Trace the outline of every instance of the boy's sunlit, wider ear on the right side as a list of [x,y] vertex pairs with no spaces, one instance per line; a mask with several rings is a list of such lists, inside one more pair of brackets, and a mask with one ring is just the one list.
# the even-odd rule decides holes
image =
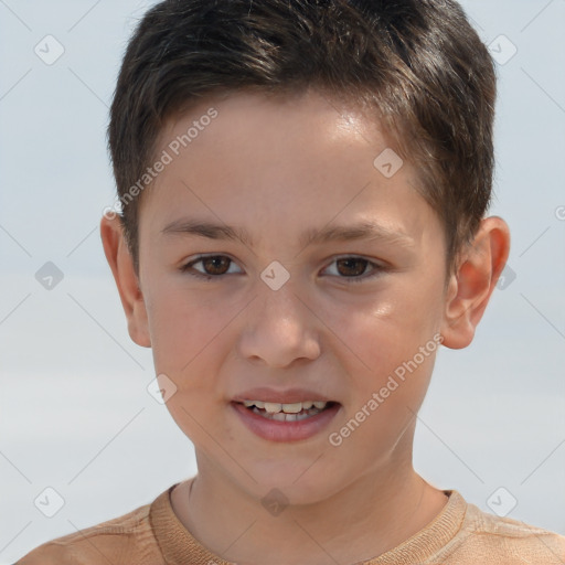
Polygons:
[[510,253],[510,230],[498,216],[481,221],[473,241],[459,258],[446,292],[443,345],[469,345]]

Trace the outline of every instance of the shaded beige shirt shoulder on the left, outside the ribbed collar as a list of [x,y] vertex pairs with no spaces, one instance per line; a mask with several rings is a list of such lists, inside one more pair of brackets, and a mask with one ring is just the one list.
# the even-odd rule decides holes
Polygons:
[[85,530],[46,542],[15,565],[94,565],[160,563],[149,520],[151,504]]

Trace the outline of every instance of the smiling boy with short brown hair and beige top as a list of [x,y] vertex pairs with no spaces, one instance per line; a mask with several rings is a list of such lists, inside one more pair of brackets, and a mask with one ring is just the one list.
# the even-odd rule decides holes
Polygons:
[[509,254],[494,97],[454,1],[152,8],[100,234],[199,472],[19,563],[564,563],[412,466],[437,349],[469,345]]

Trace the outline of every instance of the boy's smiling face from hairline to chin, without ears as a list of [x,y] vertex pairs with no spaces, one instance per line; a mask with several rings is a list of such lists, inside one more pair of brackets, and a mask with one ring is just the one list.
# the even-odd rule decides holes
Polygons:
[[[212,106],[217,116],[201,119]],[[190,143],[171,146],[190,127]],[[157,157],[172,162],[140,209],[136,335],[177,386],[167,405],[200,471],[313,502],[408,469],[446,305],[444,233],[414,170],[386,178],[398,163],[373,164],[387,148],[375,125],[315,94],[206,100],[160,143]],[[189,220],[217,225],[215,238],[163,232]],[[360,223],[398,237],[306,243],[307,232]],[[250,241],[223,237],[226,226]],[[181,270],[201,254],[222,257]],[[277,393],[339,405],[285,423],[234,402]]]

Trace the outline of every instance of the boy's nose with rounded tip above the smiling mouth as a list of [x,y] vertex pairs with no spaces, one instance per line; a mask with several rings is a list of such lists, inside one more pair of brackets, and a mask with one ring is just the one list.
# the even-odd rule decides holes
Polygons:
[[278,290],[267,285],[249,305],[239,337],[239,353],[270,367],[289,367],[320,355],[319,319],[287,282]]

